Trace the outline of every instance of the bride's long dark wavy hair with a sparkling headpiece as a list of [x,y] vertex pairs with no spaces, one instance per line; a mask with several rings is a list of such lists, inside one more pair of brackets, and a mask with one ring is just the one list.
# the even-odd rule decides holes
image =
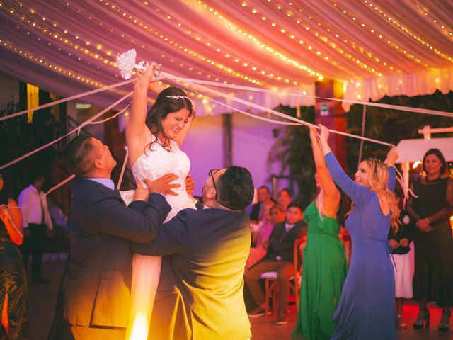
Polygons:
[[[168,113],[180,111],[182,108],[188,109],[189,117],[195,115],[192,102],[183,90],[178,87],[171,86],[161,91],[159,96],[156,98],[156,102],[149,109],[147,119],[145,120],[147,127],[154,137],[156,137],[156,140],[149,143],[149,145],[145,147],[145,152],[147,149],[151,150],[151,146],[154,143],[161,143],[162,146],[168,150],[167,146],[168,142],[170,142],[170,138],[166,135],[164,128],[162,128],[162,120],[166,118]],[[164,142],[159,141],[159,132],[164,137]]]

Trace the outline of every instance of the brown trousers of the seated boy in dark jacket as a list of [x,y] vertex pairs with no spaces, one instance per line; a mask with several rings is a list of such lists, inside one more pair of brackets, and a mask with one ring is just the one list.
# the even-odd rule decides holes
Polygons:
[[277,281],[280,289],[278,293],[278,313],[286,313],[289,299],[289,278],[294,275],[294,264],[289,261],[261,261],[248,270],[244,280],[258,306],[265,302],[265,294],[260,285],[260,276],[268,271],[277,271],[278,273]]

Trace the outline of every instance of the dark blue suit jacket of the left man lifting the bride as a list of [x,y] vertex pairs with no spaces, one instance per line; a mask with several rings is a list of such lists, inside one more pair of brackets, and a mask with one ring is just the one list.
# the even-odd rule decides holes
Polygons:
[[148,203],[127,208],[120,193],[88,179],[76,181],[71,191],[64,317],[79,326],[126,327],[131,244],[154,239],[171,207],[164,196],[151,193]]

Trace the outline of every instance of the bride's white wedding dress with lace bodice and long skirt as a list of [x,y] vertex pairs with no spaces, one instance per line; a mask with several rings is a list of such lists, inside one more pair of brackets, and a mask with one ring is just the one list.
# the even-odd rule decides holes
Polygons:
[[[160,144],[154,143],[151,150],[142,154],[132,166],[132,174],[137,181],[142,179],[155,180],[161,176],[172,173],[178,176],[173,183],[179,183],[179,188],[173,189],[178,196],[167,195],[166,200],[171,205],[171,211],[165,220],[171,220],[180,210],[194,208],[195,204],[185,191],[185,177],[190,170],[190,160],[178,147],[178,144],[170,140],[171,151],[164,149]],[[170,148],[168,148],[170,149]],[[143,184],[144,185],[144,184]],[[132,200],[131,193],[122,195],[126,204]],[[147,340],[149,322],[156,296],[159,275],[161,272],[161,256],[143,256],[134,254],[132,261],[132,290],[131,310],[125,339]]]

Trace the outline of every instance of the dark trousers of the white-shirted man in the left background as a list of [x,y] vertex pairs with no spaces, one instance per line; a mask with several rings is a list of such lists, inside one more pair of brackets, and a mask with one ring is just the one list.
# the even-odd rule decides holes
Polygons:
[[35,225],[34,223],[28,224],[30,235],[25,235],[23,244],[21,245],[21,253],[23,258],[23,266],[25,271],[28,266],[28,258],[32,255],[31,268],[33,280],[41,278],[41,263],[42,253],[45,249],[47,242],[47,225]]

